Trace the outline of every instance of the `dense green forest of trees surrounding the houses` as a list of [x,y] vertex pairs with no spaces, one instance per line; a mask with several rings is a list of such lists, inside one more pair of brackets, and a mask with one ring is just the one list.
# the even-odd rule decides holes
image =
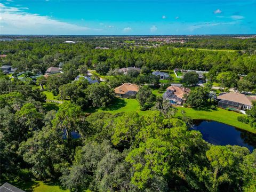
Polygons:
[[[70,191],[255,191],[255,149],[211,145],[190,129],[184,111],[177,118],[177,109],[155,97],[148,86],[137,94],[141,107],[150,109],[145,115],[90,111],[113,102],[113,88],[124,82],[159,86],[151,70],[206,70],[207,78],[223,87],[250,85],[246,91],[254,91],[255,38],[186,37],[185,44],[158,47],[148,47],[152,42],[125,44],[132,37],[26,38],[0,44],[1,54],[6,54],[0,65],[17,68],[13,77],[26,72],[22,81],[0,74],[1,183],[57,180]],[[63,43],[68,40],[77,43]],[[32,76],[51,66],[63,73],[33,81]],[[142,69],[140,75],[118,74],[100,84],[73,82],[89,69],[113,76],[115,69],[133,66]],[[46,103],[38,83],[65,101]],[[206,89],[197,87],[193,94]],[[81,137],[75,138],[74,132]]]

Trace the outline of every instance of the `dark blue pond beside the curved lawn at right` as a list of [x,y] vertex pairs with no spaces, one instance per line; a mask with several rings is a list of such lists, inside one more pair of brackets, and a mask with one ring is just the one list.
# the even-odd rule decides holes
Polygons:
[[213,145],[237,145],[250,151],[256,148],[256,134],[215,121],[195,119],[193,123],[191,129],[200,131],[203,139]]

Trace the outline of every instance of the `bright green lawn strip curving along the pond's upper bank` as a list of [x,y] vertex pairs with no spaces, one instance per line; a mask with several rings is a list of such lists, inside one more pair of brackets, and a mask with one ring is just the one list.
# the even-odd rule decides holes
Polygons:
[[242,114],[236,113],[234,111],[228,111],[225,109],[217,108],[216,110],[212,109],[194,109],[194,108],[185,108],[185,107],[177,107],[178,114],[177,116],[181,116],[181,110],[185,110],[187,116],[192,119],[205,119],[205,120],[213,120],[220,123],[225,123],[228,125],[235,126],[239,129],[243,129],[252,133],[256,133],[256,129],[253,129],[249,124],[245,124],[237,121],[238,116],[243,116]]

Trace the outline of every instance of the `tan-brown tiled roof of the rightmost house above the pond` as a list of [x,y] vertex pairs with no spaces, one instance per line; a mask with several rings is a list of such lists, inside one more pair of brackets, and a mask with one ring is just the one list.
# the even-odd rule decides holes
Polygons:
[[256,100],[256,98],[254,97],[250,97],[242,93],[234,93],[234,92],[220,93],[220,95],[217,98],[221,100],[228,100],[228,101],[242,103],[247,106],[252,106],[252,101]]

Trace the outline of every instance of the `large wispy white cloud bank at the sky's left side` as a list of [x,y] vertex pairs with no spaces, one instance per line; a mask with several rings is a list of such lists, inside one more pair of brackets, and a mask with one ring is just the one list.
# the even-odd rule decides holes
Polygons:
[[[58,21],[48,16],[24,12],[26,7],[8,7],[0,3],[1,34],[84,34],[100,31]],[[92,33],[92,32],[91,32]]]

